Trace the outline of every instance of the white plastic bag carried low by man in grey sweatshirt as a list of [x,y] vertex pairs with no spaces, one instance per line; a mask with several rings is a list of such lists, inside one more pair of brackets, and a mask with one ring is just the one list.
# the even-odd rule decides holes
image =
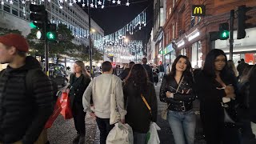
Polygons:
[[126,123],[118,122],[107,135],[106,144],[134,144],[134,134],[132,128]]

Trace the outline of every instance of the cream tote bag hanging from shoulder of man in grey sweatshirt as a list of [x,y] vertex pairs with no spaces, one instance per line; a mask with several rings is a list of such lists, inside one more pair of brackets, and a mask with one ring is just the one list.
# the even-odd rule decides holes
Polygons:
[[110,125],[113,125],[114,123],[120,121],[121,115],[118,112],[117,101],[114,93],[114,75],[111,78],[111,82],[112,90],[110,94]]

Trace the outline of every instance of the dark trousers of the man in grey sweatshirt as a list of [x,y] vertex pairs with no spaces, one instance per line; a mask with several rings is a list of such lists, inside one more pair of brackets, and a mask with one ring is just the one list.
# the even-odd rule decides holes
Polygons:
[[110,125],[110,118],[96,118],[98,129],[100,131],[100,143],[106,144],[106,137],[113,129],[114,125]]

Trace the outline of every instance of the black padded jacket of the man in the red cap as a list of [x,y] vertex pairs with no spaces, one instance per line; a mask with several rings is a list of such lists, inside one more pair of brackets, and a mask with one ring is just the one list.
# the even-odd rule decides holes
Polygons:
[[34,143],[53,110],[53,86],[42,70],[31,77],[33,94],[26,91],[26,73],[41,68],[33,57],[26,65],[14,69],[7,66],[0,78],[0,142],[22,140]]

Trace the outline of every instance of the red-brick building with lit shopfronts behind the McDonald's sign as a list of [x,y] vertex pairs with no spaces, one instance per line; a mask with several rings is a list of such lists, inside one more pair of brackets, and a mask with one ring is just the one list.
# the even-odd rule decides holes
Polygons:
[[[192,5],[206,6],[206,16],[193,17]],[[166,1],[166,24],[164,29],[164,46],[166,55],[172,50],[176,54],[183,54],[190,58],[192,67],[201,67],[206,54],[214,48],[222,49],[229,58],[229,40],[210,40],[211,32],[218,31],[219,24],[229,22],[230,10],[237,10],[238,6],[252,6],[254,9],[246,14],[252,18],[248,22],[252,25],[246,29],[246,38],[237,39],[236,30],[238,20],[235,13],[234,20],[234,62],[245,58],[246,62],[255,63],[256,41],[252,38],[256,35],[256,1],[255,0],[170,0]],[[174,45],[175,44],[175,45]],[[168,50],[169,48],[169,50]],[[175,58],[175,57],[174,57]],[[172,62],[174,58],[167,59]]]

